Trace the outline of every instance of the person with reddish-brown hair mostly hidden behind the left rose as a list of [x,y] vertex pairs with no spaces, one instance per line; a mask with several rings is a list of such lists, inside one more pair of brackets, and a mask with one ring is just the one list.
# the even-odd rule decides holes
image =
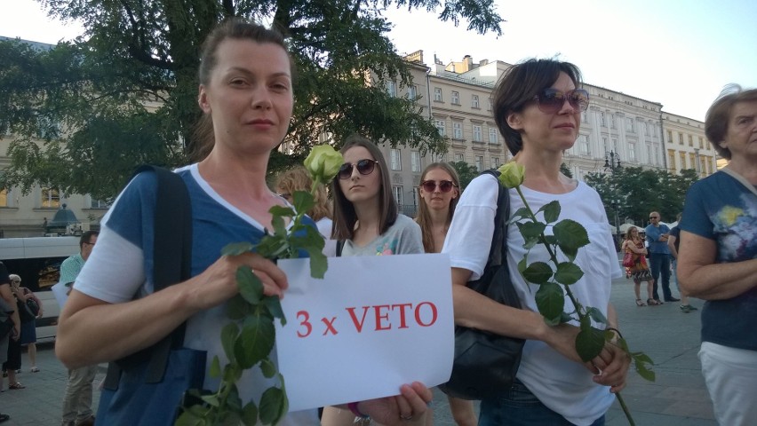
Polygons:
[[[293,193],[297,191],[309,193],[312,186],[313,180],[303,166],[295,166],[290,170],[283,171],[276,177],[274,185],[276,193],[290,204],[294,203],[294,199],[291,198]],[[307,216],[315,221],[318,232],[326,239],[323,255],[327,257],[336,256],[337,241],[331,240],[331,227],[333,226],[331,201],[324,185],[319,185],[315,189],[315,206],[307,212]]]

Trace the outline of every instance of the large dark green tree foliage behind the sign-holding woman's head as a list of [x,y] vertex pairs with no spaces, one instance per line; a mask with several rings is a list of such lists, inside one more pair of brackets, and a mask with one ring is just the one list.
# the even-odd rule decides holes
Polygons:
[[382,12],[438,11],[440,20],[498,35],[502,22],[492,0],[38,1],[52,17],[81,20],[85,34],[52,48],[0,41],[0,134],[17,137],[4,185],[53,185],[102,200],[139,163],[187,162],[198,143],[199,46],[220,20],[267,23],[287,37],[298,77],[285,140],[293,154],[275,156],[273,169],[300,162],[324,132],[443,152],[419,104],[384,89],[411,77]]

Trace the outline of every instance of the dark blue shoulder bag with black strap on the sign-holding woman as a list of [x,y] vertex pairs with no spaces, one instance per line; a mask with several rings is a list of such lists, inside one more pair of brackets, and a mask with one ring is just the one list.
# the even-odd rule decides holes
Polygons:
[[[187,185],[179,175],[154,166],[157,175],[155,204],[155,292],[187,280],[191,274],[192,210]],[[155,345],[108,364],[98,424],[172,425],[185,392],[202,389],[205,351],[182,347],[185,325]]]

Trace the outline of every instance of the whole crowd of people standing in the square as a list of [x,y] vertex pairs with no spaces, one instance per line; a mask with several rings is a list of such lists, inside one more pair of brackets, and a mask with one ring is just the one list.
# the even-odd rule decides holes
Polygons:
[[[310,189],[307,172],[301,168],[279,175],[273,190],[266,180],[270,153],[283,141],[291,120],[293,67],[283,37],[274,30],[231,19],[208,36],[198,97],[207,137],[196,162],[176,170],[191,200],[192,278],[153,291],[156,180],[154,174],[142,173],[103,218],[101,233],[83,236],[81,254],[61,268],[61,280],[65,275],[67,282],[74,283],[60,314],[55,348],[69,368],[72,393],[69,398],[66,392],[64,425],[94,421],[87,406],[92,398],[91,366],[147,348],[182,323],[187,324],[184,344],[207,351],[208,367],[214,356],[223,358],[219,336],[227,301],[238,292],[238,267],[250,268],[267,296],[286,293],[287,277],[271,260],[255,253],[220,256],[220,251],[241,238],[260,241],[272,229],[269,209],[289,206],[292,193]],[[521,189],[530,208],[536,211],[560,201],[560,218],[586,228],[590,243],[574,260],[585,274],[571,286],[573,293],[606,318],[597,327],[619,333],[622,324],[610,303],[610,281],[622,277],[623,271],[602,201],[593,188],[560,171],[563,153],[578,138],[581,114],[588,105],[578,67],[556,59],[529,59],[515,65],[492,94],[498,130],[513,161],[525,167]],[[755,91],[737,91],[719,99],[708,112],[705,127],[719,153],[731,160],[730,171],[715,173],[692,187],[680,225],[673,230],[661,223],[658,212],[651,212],[646,243],[632,227],[620,247],[634,259],[628,273],[636,305],[682,299],[681,311],[691,312],[696,308],[689,304],[689,296],[707,300],[700,358],[718,421],[729,425],[757,418],[757,406],[752,404],[757,395],[757,340],[749,329],[757,319],[755,121]],[[482,275],[487,263],[498,179],[483,174],[463,191],[447,163],[430,164],[418,182],[420,203],[413,220],[399,213],[376,142],[358,135],[341,141],[344,164],[331,182],[332,201],[325,190],[316,193],[315,207],[308,213],[315,221],[312,225],[329,240],[327,256],[446,253],[455,323],[526,340],[511,389],[482,400],[478,414],[470,401],[450,398],[458,425],[602,426],[614,393],[626,387],[630,359],[618,345],[607,342],[595,359],[584,362],[574,343],[576,322],[546,323],[536,304],[538,286],[518,272],[527,248],[516,224],[508,231],[506,261],[522,309],[498,304],[466,286]],[[512,212],[524,206],[514,190],[508,195]],[[549,254],[546,248],[535,247],[528,256],[533,262],[546,260]],[[671,257],[681,299],[670,288]],[[642,281],[647,283],[645,298]],[[0,295],[6,304],[15,305],[14,297],[33,297],[19,284],[20,278],[13,279],[0,264]],[[564,312],[575,310],[570,300],[564,304]],[[16,314],[13,319],[18,320]],[[15,376],[20,344],[29,345],[31,371],[38,371],[32,349],[34,327],[26,338],[24,329],[17,326],[9,339],[0,339],[0,355],[8,354],[4,371],[10,389],[23,388]],[[214,380],[206,375],[205,387],[214,389]],[[245,373],[237,383],[239,396],[258,399],[260,390],[270,384],[265,377]],[[432,424],[431,390],[424,383],[395,384],[394,396],[327,406],[321,413],[315,409],[289,413],[280,424],[347,426],[368,424],[369,419],[371,424]],[[89,400],[82,393],[88,393]],[[0,422],[4,420],[7,416],[0,414]]]

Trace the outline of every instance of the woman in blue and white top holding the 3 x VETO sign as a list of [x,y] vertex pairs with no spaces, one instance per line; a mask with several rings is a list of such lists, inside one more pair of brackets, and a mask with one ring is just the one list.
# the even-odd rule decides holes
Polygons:
[[[55,349],[70,368],[121,359],[185,321],[184,345],[207,351],[210,365],[216,355],[226,358],[221,329],[229,322],[227,301],[239,292],[237,268],[249,267],[268,296],[283,297],[288,288],[281,269],[258,254],[220,256],[230,242],[258,243],[273,230],[270,209],[286,205],[266,183],[270,153],[286,136],[294,100],[283,36],[232,18],[208,36],[199,63],[198,103],[211,124],[210,143],[200,162],[176,170],[192,203],[192,278],[153,291],[157,185],[155,173],[141,173],[103,219],[98,244],[60,314]],[[259,400],[273,383],[257,373],[246,370],[236,383],[244,404]],[[206,374],[203,387],[216,389],[217,382]],[[432,397],[426,386],[412,383],[399,391],[355,409],[389,424],[426,412]],[[284,414],[278,424],[319,422],[314,408]]]

